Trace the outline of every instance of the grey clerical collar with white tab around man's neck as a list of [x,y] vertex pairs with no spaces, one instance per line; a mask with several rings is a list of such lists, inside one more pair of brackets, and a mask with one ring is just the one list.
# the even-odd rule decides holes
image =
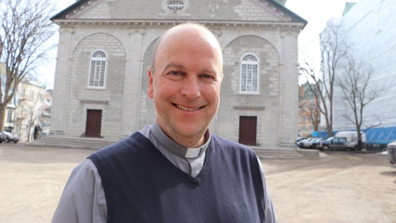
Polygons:
[[200,155],[201,151],[205,151],[209,145],[209,141],[211,138],[210,130],[208,129],[205,132],[204,138],[206,143],[199,148],[188,148],[178,144],[177,142],[170,139],[159,127],[157,121],[154,121],[153,125],[151,125],[151,133],[156,141],[163,147],[175,153],[178,156],[186,157],[186,158],[196,158]]

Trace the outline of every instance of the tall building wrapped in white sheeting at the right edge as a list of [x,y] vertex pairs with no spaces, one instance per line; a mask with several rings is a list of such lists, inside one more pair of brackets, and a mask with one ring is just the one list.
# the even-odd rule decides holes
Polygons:
[[[386,89],[379,97],[364,108],[365,126],[380,123],[381,127],[396,127],[396,2],[393,0],[360,0],[347,4],[344,16],[333,19],[338,23],[349,42],[356,62],[365,62],[372,67],[373,75],[369,89]],[[342,70],[341,66],[337,68]],[[350,108],[343,99],[340,89],[335,89],[333,106],[333,129],[354,129],[355,126],[343,117]],[[394,133],[393,135],[395,135]],[[390,136],[390,135],[389,135]],[[395,135],[396,136],[396,135]]]

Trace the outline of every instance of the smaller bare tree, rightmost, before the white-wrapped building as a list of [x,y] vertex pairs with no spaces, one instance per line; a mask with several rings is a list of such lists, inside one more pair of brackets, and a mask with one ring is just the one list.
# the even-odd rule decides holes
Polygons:
[[[337,77],[337,85],[340,86],[344,94],[344,100],[351,109],[350,113],[343,114],[347,120],[356,126],[358,143],[357,149],[361,150],[361,127],[364,121],[363,111],[367,104],[380,96],[384,89],[379,89],[375,85],[371,85],[373,69],[364,63],[356,63],[353,58],[347,57],[343,66],[344,74]],[[381,121],[379,120],[379,124]],[[379,125],[377,124],[377,125]],[[367,126],[367,129],[377,125]]]

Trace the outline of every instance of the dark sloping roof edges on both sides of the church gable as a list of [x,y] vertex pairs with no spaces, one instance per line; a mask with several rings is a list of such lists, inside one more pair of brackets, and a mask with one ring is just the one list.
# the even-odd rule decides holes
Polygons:
[[[74,10],[79,9],[82,5],[88,3],[90,0],[77,0],[73,5],[69,6],[68,8],[65,8],[61,12],[57,13],[56,15],[51,17],[51,20],[55,19],[65,19],[66,16],[70,13],[73,12]],[[277,10],[285,13],[286,15],[290,16],[294,22],[301,22],[304,23],[305,25],[308,23],[307,20],[303,19],[299,15],[295,14],[294,12],[290,11],[286,7],[282,5],[282,3],[279,3],[277,0],[253,0],[255,2],[267,2],[271,4],[273,7],[275,7]],[[303,27],[303,28],[304,28]]]

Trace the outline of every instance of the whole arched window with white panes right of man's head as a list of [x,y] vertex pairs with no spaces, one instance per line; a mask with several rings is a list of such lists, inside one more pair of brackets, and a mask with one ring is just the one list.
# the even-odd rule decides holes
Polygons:
[[246,54],[241,61],[240,91],[258,93],[258,59],[253,54]]

